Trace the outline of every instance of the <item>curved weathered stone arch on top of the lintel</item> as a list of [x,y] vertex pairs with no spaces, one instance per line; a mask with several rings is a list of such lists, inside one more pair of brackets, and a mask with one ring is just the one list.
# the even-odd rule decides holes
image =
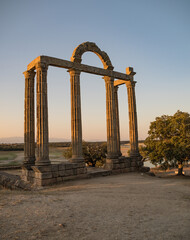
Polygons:
[[84,42],[78,45],[73,51],[71,61],[75,63],[81,63],[82,55],[85,52],[95,53],[103,63],[104,69],[113,70],[113,65],[106,52],[101,51],[101,49],[93,42]]

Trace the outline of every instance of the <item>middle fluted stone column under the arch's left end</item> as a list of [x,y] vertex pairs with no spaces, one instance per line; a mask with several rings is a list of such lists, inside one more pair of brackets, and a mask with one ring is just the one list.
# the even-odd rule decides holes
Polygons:
[[71,69],[71,162],[84,161],[82,154],[82,120],[81,120],[81,98],[80,98],[80,71]]

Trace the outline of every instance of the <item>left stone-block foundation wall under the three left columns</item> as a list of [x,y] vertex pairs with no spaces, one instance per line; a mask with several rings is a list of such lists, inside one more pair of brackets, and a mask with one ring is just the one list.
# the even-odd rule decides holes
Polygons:
[[22,179],[36,186],[47,186],[85,177],[87,168],[85,163],[61,163],[48,166],[32,166],[30,169],[22,167]]

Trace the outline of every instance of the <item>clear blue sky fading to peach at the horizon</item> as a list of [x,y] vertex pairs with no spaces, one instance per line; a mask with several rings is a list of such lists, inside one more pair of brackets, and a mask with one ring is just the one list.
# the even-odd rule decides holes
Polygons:
[[[24,75],[39,55],[70,60],[95,42],[115,71],[134,67],[139,139],[155,117],[190,113],[189,0],[0,0],[0,138],[23,136]],[[102,67],[93,53],[82,62]],[[50,138],[70,139],[70,80],[48,69]],[[106,139],[105,84],[81,74],[83,139]],[[129,139],[126,86],[119,88],[121,139]]]

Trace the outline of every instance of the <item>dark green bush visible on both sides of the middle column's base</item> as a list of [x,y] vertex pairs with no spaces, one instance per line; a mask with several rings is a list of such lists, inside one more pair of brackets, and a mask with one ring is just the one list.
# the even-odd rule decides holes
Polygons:
[[[92,167],[102,167],[105,163],[107,144],[106,143],[82,143],[83,157],[85,162]],[[66,149],[63,152],[63,156],[66,159],[72,157],[72,148]]]

